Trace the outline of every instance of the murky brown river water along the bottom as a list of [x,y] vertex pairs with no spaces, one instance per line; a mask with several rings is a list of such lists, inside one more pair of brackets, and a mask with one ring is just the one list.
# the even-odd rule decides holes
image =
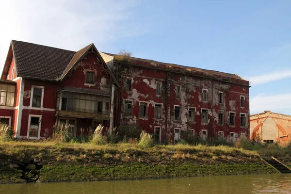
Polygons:
[[0,194],[291,194],[291,175],[2,184]]

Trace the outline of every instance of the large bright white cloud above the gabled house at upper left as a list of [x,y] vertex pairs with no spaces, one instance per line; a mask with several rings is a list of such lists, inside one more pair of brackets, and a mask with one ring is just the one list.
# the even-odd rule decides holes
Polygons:
[[10,41],[21,40],[62,49],[97,49],[116,39],[146,33],[134,18],[139,0],[1,0],[0,72]]

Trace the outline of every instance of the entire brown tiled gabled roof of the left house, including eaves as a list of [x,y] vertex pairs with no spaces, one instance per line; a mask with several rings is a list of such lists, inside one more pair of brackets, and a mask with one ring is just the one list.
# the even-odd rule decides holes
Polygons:
[[[81,50],[71,51],[58,49],[28,42],[12,40],[2,71],[1,79],[6,79],[12,57],[15,59],[16,74],[19,77],[58,81],[64,79],[70,69],[79,63],[89,49],[96,49],[90,44]],[[110,74],[117,87],[119,87],[113,73],[104,62],[99,52],[95,52],[101,64]]]

